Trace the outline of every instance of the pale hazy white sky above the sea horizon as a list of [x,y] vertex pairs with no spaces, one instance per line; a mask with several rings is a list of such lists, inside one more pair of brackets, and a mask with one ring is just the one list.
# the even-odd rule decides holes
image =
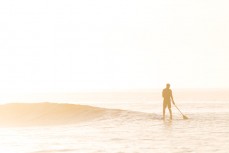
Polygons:
[[0,1],[0,91],[229,87],[228,0]]

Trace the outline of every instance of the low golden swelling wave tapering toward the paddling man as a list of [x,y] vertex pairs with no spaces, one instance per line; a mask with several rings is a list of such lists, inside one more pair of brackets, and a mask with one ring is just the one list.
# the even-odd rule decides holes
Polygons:
[[0,105],[0,126],[40,126],[76,124],[91,120],[159,119],[158,115],[78,104],[11,103]]

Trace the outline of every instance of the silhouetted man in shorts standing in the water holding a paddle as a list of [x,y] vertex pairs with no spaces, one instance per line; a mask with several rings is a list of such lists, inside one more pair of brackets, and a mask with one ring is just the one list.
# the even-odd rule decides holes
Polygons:
[[165,119],[165,109],[168,107],[170,119],[172,120],[173,116],[172,116],[172,109],[171,109],[171,100],[174,105],[175,105],[175,102],[173,100],[173,93],[172,93],[172,90],[170,89],[169,83],[167,83],[166,88],[163,89],[162,97],[164,98],[163,100],[163,119]]

